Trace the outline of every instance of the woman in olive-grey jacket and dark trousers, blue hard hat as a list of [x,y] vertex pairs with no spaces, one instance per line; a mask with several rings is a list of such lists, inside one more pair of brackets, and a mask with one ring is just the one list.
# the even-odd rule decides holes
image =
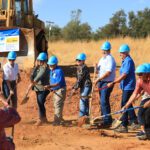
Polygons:
[[47,123],[45,102],[46,97],[49,94],[49,90],[45,90],[44,86],[49,84],[49,68],[47,66],[47,54],[42,52],[37,57],[38,65],[33,69],[31,73],[31,85],[36,92],[37,104],[39,109],[39,119],[37,120],[37,126]]

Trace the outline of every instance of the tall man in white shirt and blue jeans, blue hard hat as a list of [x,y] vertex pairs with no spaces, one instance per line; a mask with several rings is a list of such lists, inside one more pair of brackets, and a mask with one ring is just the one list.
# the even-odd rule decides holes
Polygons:
[[[111,44],[106,41],[103,43],[102,47],[103,57],[99,60],[97,65],[98,78],[95,84],[98,88],[107,87],[107,84],[113,82],[116,75],[116,62],[114,57],[111,55]],[[111,113],[110,108],[110,95],[113,90],[113,86],[110,88],[104,88],[99,90],[100,104],[101,104],[101,115],[106,115]],[[103,127],[109,127],[112,123],[112,117],[106,116],[103,118]]]

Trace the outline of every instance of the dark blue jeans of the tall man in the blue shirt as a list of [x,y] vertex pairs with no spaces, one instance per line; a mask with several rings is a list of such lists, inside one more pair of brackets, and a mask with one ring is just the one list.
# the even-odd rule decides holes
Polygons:
[[[133,93],[133,90],[124,90],[122,92],[123,93],[122,93],[121,108],[128,102],[128,100],[130,99],[130,96]],[[133,108],[132,104],[129,106],[129,108]],[[122,121],[123,126],[126,127],[128,125],[128,119],[130,119],[131,122],[137,121],[137,117],[136,117],[134,109],[123,113],[123,115],[120,119]]]

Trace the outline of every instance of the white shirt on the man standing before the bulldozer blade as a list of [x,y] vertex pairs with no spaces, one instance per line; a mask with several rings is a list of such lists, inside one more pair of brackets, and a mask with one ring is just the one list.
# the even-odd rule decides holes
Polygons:
[[3,72],[4,72],[4,80],[14,81],[17,79],[17,75],[19,73],[18,64],[14,64],[14,67],[10,65],[9,62],[7,62],[3,66]]

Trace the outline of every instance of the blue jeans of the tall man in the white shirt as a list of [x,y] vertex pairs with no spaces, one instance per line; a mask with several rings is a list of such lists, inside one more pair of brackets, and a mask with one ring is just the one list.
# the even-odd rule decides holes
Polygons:
[[[102,88],[102,87],[107,86],[107,83],[109,83],[109,82],[100,81],[98,83],[98,88]],[[111,113],[109,98],[110,98],[110,94],[111,94],[112,90],[113,90],[113,87],[99,90],[100,104],[101,104],[101,115],[106,115],[106,114]],[[106,116],[103,119],[104,119],[105,125],[112,123],[112,117],[111,116]]]

